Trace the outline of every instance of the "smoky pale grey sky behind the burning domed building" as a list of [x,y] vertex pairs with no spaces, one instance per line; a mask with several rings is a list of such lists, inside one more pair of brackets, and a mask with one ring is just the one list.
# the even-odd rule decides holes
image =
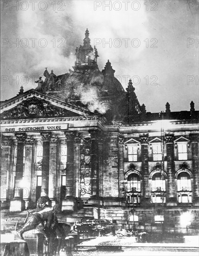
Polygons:
[[[115,76],[124,88],[127,87],[129,77],[135,76],[134,83],[138,83],[136,77],[139,77],[140,82],[134,85],[135,92],[140,104],[146,105],[147,111],[165,110],[167,101],[171,111],[189,110],[191,101],[198,109],[198,0],[192,1],[190,8],[187,8],[186,0],[160,0],[157,6],[156,1],[130,1],[127,7],[124,1],[112,1],[111,10],[109,7],[103,10],[105,1],[65,0],[58,5],[59,1],[46,0],[43,1],[46,3],[46,10],[43,11],[40,8],[44,9],[45,6],[40,0],[35,3],[34,10],[30,1],[24,2],[28,5],[24,3],[19,6],[19,10],[16,7],[10,10],[9,4],[4,7],[6,1],[1,1],[1,42],[2,39],[4,42],[8,39],[7,44],[1,44],[1,100],[9,99],[19,92],[20,78],[24,84],[27,83],[24,85],[25,91],[36,88],[37,84],[33,84],[30,76],[34,75],[33,80],[36,80],[43,75],[45,67],[49,71],[53,69],[56,75],[72,69],[75,61],[73,53],[76,46],[83,43],[88,28],[92,46],[96,39],[99,42],[96,45],[99,69],[103,69],[109,59],[116,71]],[[96,10],[94,2],[101,5]],[[134,9],[139,8],[137,11],[132,8],[133,2],[136,2]],[[149,10],[146,10],[147,7]],[[35,38],[34,47],[31,38]],[[42,38],[47,41],[46,47],[39,46],[38,42]],[[62,40],[59,39],[62,38],[65,43],[60,48],[58,45]],[[134,46],[140,42],[139,47],[132,46],[131,42],[135,38],[138,40],[133,41]],[[189,47],[187,38],[193,42]],[[19,42],[26,39],[21,44],[25,46],[28,42],[29,46],[21,47],[19,43],[19,47],[10,47],[11,39]],[[105,44],[109,40],[111,44]],[[157,47],[152,48],[155,42],[154,46]],[[11,81],[10,76],[13,79],[19,76],[19,84]],[[27,76],[28,81],[23,76]],[[192,76],[190,79],[193,81],[189,84],[187,76]]]

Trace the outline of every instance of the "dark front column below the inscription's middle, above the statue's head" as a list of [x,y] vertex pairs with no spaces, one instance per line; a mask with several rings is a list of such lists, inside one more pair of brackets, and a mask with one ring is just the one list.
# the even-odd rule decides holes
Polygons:
[[51,133],[47,133],[47,132],[41,133],[41,137],[43,141],[41,196],[48,196],[51,135],[52,135]]

